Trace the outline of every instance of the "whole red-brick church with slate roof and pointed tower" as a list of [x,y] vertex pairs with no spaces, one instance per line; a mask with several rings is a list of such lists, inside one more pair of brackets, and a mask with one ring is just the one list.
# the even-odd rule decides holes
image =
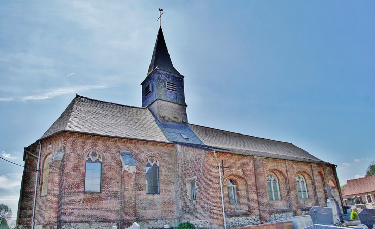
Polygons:
[[343,205],[336,165],[189,123],[161,27],[141,85],[142,107],[76,95],[24,148],[17,228],[235,228],[326,206],[327,184]]

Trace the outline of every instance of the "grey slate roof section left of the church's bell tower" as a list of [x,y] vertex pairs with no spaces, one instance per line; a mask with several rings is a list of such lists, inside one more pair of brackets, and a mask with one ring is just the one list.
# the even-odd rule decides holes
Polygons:
[[147,108],[76,96],[41,139],[61,131],[168,142]]

